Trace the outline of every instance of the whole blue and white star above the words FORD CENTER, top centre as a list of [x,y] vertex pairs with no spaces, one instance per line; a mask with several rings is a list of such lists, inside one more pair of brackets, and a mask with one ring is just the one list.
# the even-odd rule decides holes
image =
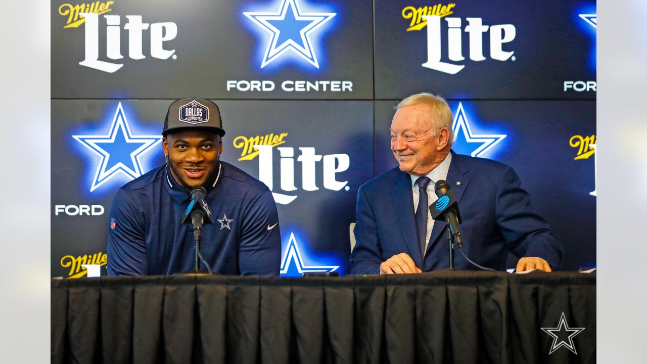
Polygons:
[[243,12],[256,25],[269,32],[270,39],[261,68],[292,51],[319,68],[310,39],[314,30],[336,16],[331,12],[303,12],[298,0],[281,0],[276,12]]

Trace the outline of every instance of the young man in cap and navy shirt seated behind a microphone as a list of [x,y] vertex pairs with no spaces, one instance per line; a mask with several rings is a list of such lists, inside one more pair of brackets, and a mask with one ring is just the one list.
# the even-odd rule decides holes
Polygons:
[[213,222],[203,226],[200,247],[210,269],[223,275],[278,275],[281,235],[272,192],[220,161],[223,135],[214,102],[193,97],[171,103],[162,131],[166,165],[126,183],[113,199],[109,275],[169,275],[195,268],[193,229],[182,220],[196,187],[206,189]]

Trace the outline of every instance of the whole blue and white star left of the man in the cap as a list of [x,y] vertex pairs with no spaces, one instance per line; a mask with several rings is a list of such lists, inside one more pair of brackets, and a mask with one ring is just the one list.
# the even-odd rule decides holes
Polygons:
[[107,135],[72,137],[100,157],[90,192],[118,174],[130,180],[144,174],[140,157],[162,141],[160,135],[133,135],[121,102]]

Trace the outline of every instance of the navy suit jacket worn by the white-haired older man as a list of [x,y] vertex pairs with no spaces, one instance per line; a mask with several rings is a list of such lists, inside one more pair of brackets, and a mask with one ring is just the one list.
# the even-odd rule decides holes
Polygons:
[[[552,269],[562,266],[558,236],[532,208],[530,196],[512,167],[452,152],[446,181],[459,202],[465,255],[481,266],[505,270],[510,251],[538,256]],[[460,184],[457,184],[460,182]],[[436,220],[422,255],[413,212],[411,177],[399,167],[377,176],[357,192],[355,249],[351,274],[378,274],[380,263],[406,253],[422,271],[449,267],[447,223]],[[454,267],[475,269],[460,251]]]

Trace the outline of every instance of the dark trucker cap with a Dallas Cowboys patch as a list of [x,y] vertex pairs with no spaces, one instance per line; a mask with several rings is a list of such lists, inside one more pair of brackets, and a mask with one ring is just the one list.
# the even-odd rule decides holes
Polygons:
[[214,131],[222,137],[225,135],[220,109],[210,100],[203,98],[181,98],[171,102],[164,119],[162,135],[184,129],[201,129]]

